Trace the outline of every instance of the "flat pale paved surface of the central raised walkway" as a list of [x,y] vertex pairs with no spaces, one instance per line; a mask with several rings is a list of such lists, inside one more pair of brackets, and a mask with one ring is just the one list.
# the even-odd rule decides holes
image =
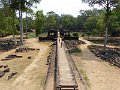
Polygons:
[[59,85],[76,85],[72,76],[71,67],[67,59],[63,41],[58,37],[58,68],[59,68]]

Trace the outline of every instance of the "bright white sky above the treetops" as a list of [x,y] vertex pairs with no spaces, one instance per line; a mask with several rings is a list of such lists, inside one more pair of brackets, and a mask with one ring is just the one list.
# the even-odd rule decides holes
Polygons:
[[80,10],[88,9],[90,9],[88,4],[82,3],[81,0],[41,0],[34,11],[43,10],[45,15],[49,11],[54,11],[59,15],[71,14],[76,17]]

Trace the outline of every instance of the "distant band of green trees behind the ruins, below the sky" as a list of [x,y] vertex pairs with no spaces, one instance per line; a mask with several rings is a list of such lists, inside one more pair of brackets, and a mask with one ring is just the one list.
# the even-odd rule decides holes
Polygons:
[[[5,11],[6,10],[6,11]],[[97,10],[80,10],[77,17],[69,14],[58,15],[53,11],[43,14],[39,10],[36,13],[30,12],[27,18],[23,18],[23,29],[36,30],[36,35],[50,30],[70,30],[70,31],[84,31],[88,35],[103,36],[105,33],[105,11],[103,9]],[[0,7],[0,36],[19,33],[19,18],[15,15],[13,22],[12,13],[6,7]],[[15,24],[13,26],[13,24]],[[120,6],[111,10],[108,24],[108,34],[110,36],[120,36]]]

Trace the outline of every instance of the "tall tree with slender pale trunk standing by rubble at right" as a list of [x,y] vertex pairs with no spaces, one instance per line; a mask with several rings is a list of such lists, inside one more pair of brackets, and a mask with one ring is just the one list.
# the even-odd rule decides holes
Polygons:
[[108,22],[109,17],[111,14],[111,10],[118,5],[119,0],[82,0],[85,3],[88,3],[90,6],[94,6],[95,4],[101,5],[104,10],[106,11],[106,32],[105,32],[105,43],[104,48],[106,48],[107,45],[107,37],[108,37]]

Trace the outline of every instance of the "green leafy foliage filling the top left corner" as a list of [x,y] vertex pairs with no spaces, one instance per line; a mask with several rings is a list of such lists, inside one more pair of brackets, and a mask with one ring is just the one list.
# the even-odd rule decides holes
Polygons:
[[[17,33],[19,22],[16,17],[16,11],[19,9],[26,11],[28,6],[33,6],[34,3],[39,3],[41,0],[0,0],[0,35]],[[28,12],[31,9],[27,10]]]

